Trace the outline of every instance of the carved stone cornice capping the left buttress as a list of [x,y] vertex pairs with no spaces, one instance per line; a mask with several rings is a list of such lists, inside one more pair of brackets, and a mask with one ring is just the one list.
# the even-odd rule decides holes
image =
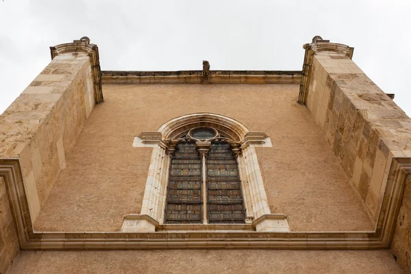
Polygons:
[[50,47],[51,60],[55,56],[64,53],[76,53],[84,52],[90,56],[92,82],[94,86],[94,97],[96,103],[103,103],[103,90],[101,88],[101,69],[99,60],[99,47],[94,44],[90,44],[90,39],[86,36],[80,38],[80,40],[73,40],[71,43],[60,44],[54,47]]

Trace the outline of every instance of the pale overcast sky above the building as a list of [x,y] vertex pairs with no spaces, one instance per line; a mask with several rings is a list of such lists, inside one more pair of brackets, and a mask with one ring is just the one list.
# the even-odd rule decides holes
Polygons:
[[320,35],[411,116],[411,0],[0,1],[0,113],[50,62],[88,36],[102,70],[301,70]]

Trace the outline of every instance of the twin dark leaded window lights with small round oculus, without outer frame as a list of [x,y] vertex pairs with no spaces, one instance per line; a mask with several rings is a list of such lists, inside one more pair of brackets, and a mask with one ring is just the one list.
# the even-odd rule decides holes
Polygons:
[[196,127],[175,143],[165,223],[245,223],[235,142]]

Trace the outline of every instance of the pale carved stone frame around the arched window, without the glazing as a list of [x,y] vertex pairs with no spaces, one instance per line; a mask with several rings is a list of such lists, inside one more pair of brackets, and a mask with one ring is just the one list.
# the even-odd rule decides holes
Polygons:
[[[164,224],[171,154],[175,151],[177,138],[197,127],[216,129],[238,144],[238,170],[245,203],[245,225],[258,231],[289,232],[286,216],[271,213],[258,164],[256,147],[273,147],[271,138],[264,132],[250,132],[245,125],[227,116],[212,113],[179,116],[161,125],[157,132],[141,132],[134,137],[133,147],[151,147],[153,151],[140,214],[127,214],[122,231],[155,231],[158,226],[162,229],[175,226]],[[187,226],[190,225],[178,224],[177,227],[188,229]],[[236,225],[238,224],[225,226]]]

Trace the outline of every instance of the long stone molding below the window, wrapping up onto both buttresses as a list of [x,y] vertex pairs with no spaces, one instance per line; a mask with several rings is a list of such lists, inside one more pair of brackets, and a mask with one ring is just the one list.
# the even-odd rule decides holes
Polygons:
[[411,158],[393,158],[374,232],[34,232],[18,159],[0,160],[21,249],[385,249],[390,247]]

